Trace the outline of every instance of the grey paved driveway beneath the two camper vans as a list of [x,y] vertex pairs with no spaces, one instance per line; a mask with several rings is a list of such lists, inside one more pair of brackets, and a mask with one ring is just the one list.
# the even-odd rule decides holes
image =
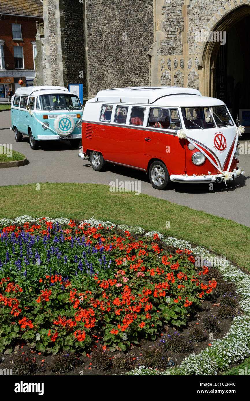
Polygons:
[[77,157],[79,150],[71,148],[69,142],[47,142],[42,149],[32,150],[28,144],[28,137],[24,137],[23,142],[15,142],[10,125],[10,111],[0,112],[0,144],[12,143],[13,150],[25,154],[29,164],[1,169],[0,186],[34,182],[86,182],[109,185],[116,179],[139,180],[141,192],[144,194],[225,217],[250,227],[250,154],[240,156],[239,166],[245,171],[244,176],[241,175],[235,182],[228,182],[228,186],[214,184],[214,190],[211,191],[209,184],[171,183],[168,190],[159,191],[152,188],[143,172],[137,170],[114,167],[110,164],[105,172],[94,171],[88,160]]

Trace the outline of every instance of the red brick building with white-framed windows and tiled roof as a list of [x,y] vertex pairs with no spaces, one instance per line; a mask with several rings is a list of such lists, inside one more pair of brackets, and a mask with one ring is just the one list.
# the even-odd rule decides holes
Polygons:
[[0,0],[0,101],[8,100],[20,79],[33,85],[36,21],[43,21],[41,0]]

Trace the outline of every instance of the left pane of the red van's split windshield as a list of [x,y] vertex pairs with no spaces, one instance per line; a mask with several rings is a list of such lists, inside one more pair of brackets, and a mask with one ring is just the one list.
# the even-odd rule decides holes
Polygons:
[[187,130],[215,128],[209,107],[181,107],[181,113]]

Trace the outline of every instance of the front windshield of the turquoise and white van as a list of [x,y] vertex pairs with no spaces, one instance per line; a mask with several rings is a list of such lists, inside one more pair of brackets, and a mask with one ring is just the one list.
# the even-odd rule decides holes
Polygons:
[[38,110],[80,110],[81,108],[78,97],[67,93],[41,95],[37,98]]

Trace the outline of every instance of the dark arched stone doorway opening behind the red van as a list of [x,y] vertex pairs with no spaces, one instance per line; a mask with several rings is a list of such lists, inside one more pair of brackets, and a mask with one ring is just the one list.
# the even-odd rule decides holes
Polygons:
[[249,24],[250,5],[236,6],[210,25],[213,32],[226,32],[226,44],[209,41],[202,51],[200,90],[205,96],[225,101],[234,120],[240,108],[250,108],[250,102],[241,93],[244,89],[250,91]]

